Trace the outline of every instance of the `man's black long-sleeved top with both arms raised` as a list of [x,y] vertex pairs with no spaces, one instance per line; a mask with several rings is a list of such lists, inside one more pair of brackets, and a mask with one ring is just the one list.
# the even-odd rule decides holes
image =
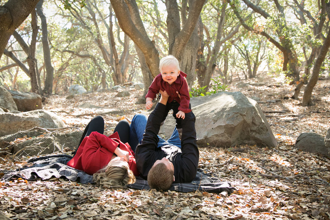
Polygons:
[[174,145],[157,147],[157,136],[166,105],[157,103],[148,118],[146,131],[141,144],[135,151],[135,160],[140,176],[147,179],[148,172],[156,160],[163,157],[169,159],[174,165],[174,183],[189,183],[196,176],[199,152],[196,144],[195,115],[185,113],[182,120],[181,149]]

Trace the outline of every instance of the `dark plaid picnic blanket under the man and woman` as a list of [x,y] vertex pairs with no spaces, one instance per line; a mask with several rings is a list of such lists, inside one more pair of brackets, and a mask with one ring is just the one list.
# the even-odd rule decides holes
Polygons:
[[[71,181],[79,181],[87,184],[93,183],[93,176],[88,175],[82,170],[74,169],[67,166],[67,162],[72,159],[72,156],[66,154],[49,155],[39,158],[31,158],[27,163],[33,163],[32,166],[16,169],[15,171],[3,171],[5,175],[2,181],[9,181],[13,178],[22,178],[29,181],[48,180],[52,177],[67,178]],[[149,190],[148,181],[140,177],[133,184],[128,184],[127,187],[132,189],[146,189]],[[178,192],[194,192],[196,190],[205,191],[209,193],[221,193],[226,191],[231,194],[235,188],[229,182],[218,182],[216,178],[211,178],[203,172],[197,172],[196,177],[191,183],[174,183],[169,190]]]

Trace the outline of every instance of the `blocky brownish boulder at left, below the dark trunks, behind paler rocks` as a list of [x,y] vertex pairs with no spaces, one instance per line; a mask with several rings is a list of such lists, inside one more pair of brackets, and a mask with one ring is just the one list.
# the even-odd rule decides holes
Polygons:
[[34,92],[9,91],[16,103],[18,111],[27,112],[42,109],[42,98]]

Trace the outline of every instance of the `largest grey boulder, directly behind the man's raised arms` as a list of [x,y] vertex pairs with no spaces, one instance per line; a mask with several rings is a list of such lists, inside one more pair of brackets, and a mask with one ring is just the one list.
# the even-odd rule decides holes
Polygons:
[[[230,147],[237,144],[275,147],[277,141],[256,101],[241,92],[219,92],[190,99],[196,116],[197,144]],[[175,120],[171,114],[160,129],[169,138]]]

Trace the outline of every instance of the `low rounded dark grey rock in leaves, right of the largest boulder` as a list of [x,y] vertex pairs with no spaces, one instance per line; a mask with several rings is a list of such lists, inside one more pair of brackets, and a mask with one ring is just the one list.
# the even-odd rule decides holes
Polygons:
[[324,144],[324,136],[314,132],[301,133],[296,140],[295,147],[298,150],[330,156],[329,150]]

